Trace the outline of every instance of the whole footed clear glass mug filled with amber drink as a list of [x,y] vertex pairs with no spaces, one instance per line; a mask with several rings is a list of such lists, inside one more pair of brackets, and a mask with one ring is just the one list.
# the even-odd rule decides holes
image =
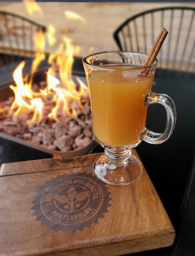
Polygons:
[[[101,52],[83,59],[88,82],[93,133],[105,149],[95,160],[93,170],[103,182],[127,185],[143,172],[140,160],[131,149],[142,140],[159,144],[166,141],[176,122],[175,104],[165,94],[151,91],[158,60],[143,66],[147,54],[138,52]],[[160,103],[166,109],[164,133],[149,131],[148,105]]]

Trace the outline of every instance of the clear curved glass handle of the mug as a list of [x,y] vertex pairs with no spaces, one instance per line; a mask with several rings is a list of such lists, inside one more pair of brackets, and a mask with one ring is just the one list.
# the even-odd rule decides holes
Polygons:
[[165,107],[167,113],[167,123],[165,131],[163,133],[155,133],[149,131],[146,127],[142,130],[140,136],[143,141],[150,144],[160,144],[168,140],[171,133],[174,130],[176,122],[176,109],[173,100],[165,94],[157,94],[149,91],[146,94],[144,106],[148,106],[153,103],[160,103]]

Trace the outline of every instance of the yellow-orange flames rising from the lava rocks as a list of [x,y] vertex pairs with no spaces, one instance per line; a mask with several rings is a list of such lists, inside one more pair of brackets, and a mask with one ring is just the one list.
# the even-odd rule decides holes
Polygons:
[[[71,12],[66,12],[66,15],[72,18],[84,19]],[[48,26],[46,33],[47,40],[50,46],[56,43],[55,27]],[[84,112],[83,103],[81,102],[82,94],[88,90],[88,87],[81,79],[76,77],[77,83],[72,78],[72,67],[74,55],[80,51],[80,46],[73,45],[72,40],[65,36],[62,37],[62,42],[56,52],[52,52],[48,57],[50,68],[46,72],[47,84],[45,88],[40,88],[37,92],[33,91],[33,74],[37,70],[40,62],[45,59],[45,35],[42,30],[39,30],[34,37],[35,46],[37,48],[36,57],[31,67],[30,82],[24,83],[27,79],[23,78],[22,71],[25,62],[22,61],[13,73],[16,86],[10,85],[14,91],[15,100],[10,108],[10,114],[14,121],[19,122],[22,115],[27,115],[27,124],[40,123],[47,118],[55,121],[64,122],[68,117],[77,116]],[[45,105],[49,105],[49,113],[43,115]]]

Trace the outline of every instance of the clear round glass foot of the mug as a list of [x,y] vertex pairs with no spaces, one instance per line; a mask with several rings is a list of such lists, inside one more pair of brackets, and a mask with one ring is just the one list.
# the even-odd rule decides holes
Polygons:
[[[129,150],[129,153],[131,150]],[[95,175],[110,185],[128,185],[140,178],[143,172],[141,161],[129,155],[123,164],[115,164],[105,154],[99,156],[93,165]]]

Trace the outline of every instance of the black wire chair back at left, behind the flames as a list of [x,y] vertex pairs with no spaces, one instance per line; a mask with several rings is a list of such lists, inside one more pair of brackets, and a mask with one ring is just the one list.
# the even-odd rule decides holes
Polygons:
[[34,56],[33,37],[46,27],[20,15],[0,11],[0,65]]

